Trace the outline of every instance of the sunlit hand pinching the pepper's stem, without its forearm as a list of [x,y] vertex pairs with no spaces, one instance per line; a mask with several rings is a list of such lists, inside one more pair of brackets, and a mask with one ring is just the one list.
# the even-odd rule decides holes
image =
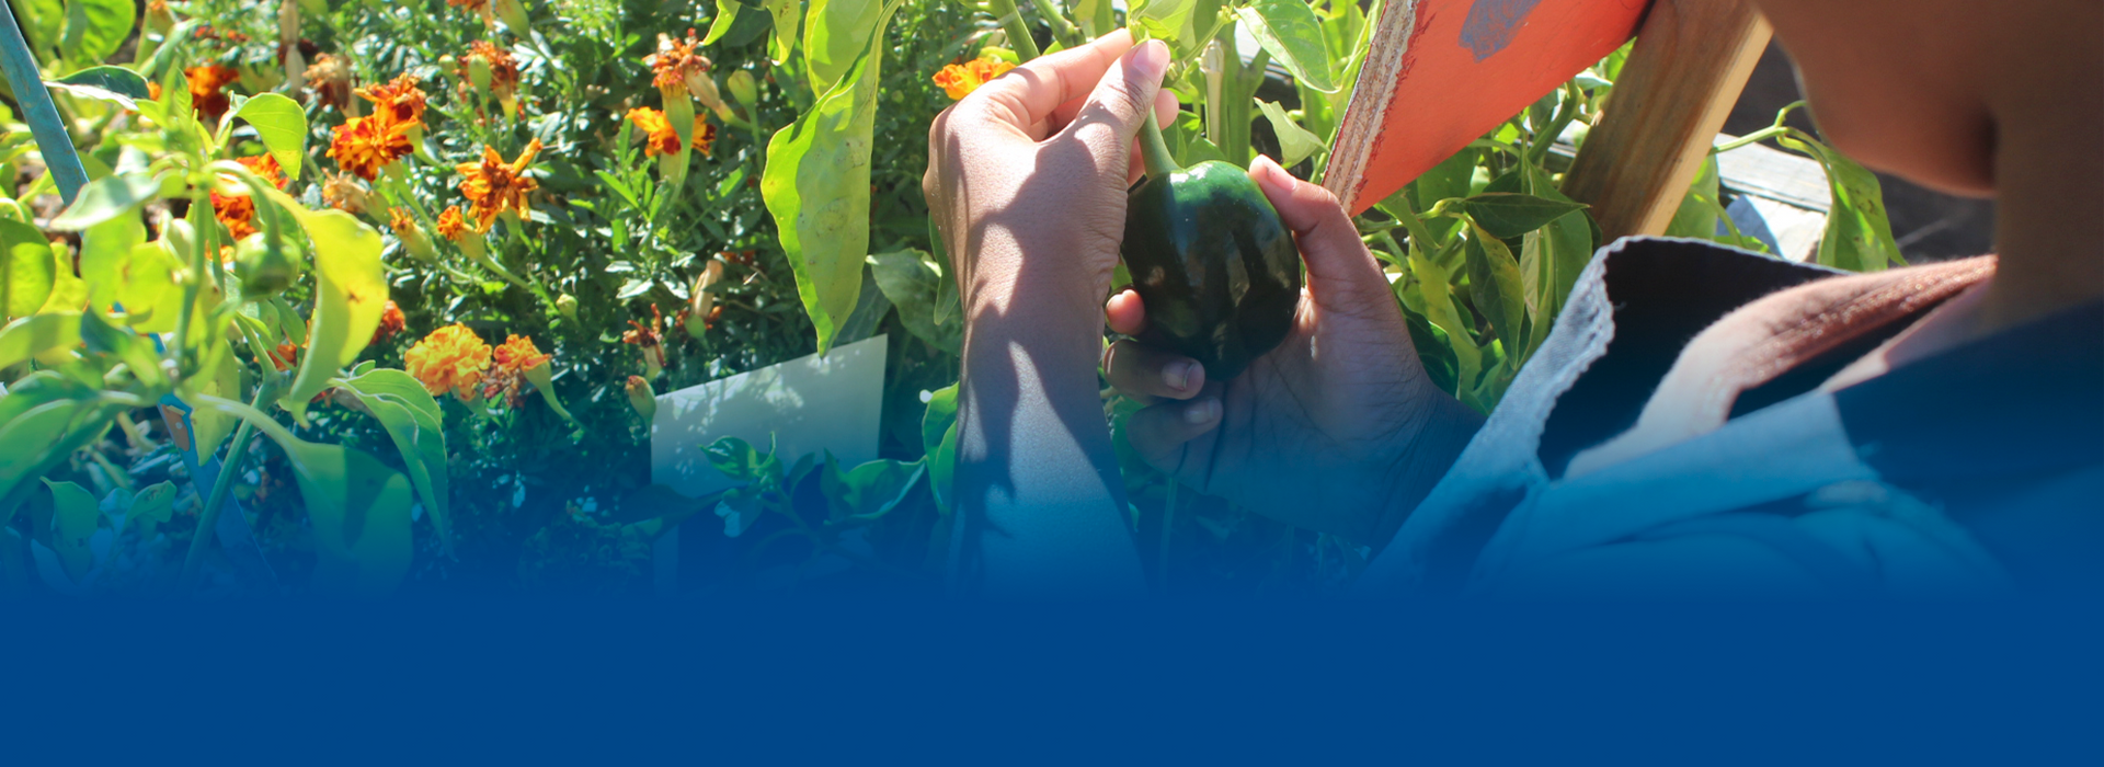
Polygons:
[[1140,177],[1145,107],[1176,116],[1176,97],[1159,90],[1168,65],[1159,40],[1134,46],[1119,29],[1029,61],[934,120],[922,189],[966,317],[1006,315],[1027,288],[1033,307],[1094,322]]

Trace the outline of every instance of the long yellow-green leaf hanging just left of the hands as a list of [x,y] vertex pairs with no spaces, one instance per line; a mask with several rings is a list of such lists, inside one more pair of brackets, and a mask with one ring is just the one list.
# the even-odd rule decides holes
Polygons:
[[884,4],[863,53],[839,84],[768,141],[768,170],[760,179],[760,195],[781,229],[821,353],[833,347],[833,336],[863,294],[869,151],[877,118],[877,69],[884,61],[877,42],[898,2]]

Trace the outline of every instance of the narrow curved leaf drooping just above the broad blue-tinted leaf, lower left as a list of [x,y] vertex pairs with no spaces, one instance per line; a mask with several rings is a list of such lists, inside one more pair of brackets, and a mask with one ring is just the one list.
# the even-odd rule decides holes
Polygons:
[[408,479],[423,498],[423,509],[431,513],[431,527],[442,546],[450,548],[452,519],[446,509],[446,416],[438,410],[438,399],[423,389],[417,378],[402,370],[372,368],[351,378],[337,378],[330,385],[347,391],[387,429]]

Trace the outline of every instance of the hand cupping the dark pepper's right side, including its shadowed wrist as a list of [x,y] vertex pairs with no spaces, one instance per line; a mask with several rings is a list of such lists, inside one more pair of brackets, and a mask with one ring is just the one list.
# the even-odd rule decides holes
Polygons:
[[[1157,401],[1126,422],[1155,469],[1260,515],[1380,544],[1445,475],[1481,416],[1431,385],[1387,275],[1336,198],[1256,158],[1250,177],[1307,263],[1294,328],[1235,380],[1172,351],[1119,340],[1111,385]],[[1145,338],[1124,290],[1111,330]]]

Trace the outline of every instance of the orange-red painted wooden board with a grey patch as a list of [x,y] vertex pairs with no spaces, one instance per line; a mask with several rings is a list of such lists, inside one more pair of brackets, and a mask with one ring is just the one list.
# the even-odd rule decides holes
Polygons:
[[1628,42],[1645,0],[1389,0],[1323,187],[1353,214]]

